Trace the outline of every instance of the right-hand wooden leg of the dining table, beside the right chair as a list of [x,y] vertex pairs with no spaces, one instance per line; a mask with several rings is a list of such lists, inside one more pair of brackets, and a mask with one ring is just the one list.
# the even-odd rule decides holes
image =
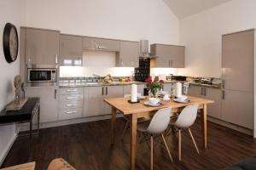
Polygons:
[[207,149],[207,105],[203,105],[203,109],[201,111],[201,131],[203,147]]

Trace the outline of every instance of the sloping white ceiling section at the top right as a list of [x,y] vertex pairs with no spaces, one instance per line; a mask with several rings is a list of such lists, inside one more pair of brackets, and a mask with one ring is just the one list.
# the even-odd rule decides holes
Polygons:
[[164,0],[177,18],[183,19],[231,0]]

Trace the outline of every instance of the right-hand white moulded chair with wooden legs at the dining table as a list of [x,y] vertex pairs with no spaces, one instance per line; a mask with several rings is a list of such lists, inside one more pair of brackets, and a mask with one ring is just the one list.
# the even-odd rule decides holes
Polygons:
[[188,105],[186,106],[183,111],[177,117],[176,122],[171,122],[171,125],[177,128],[177,137],[178,137],[178,160],[181,161],[181,130],[188,129],[189,135],[195,145],[195,150],[199,154],[199,150],[195,143],[195,139],[193,134],[190,131],[190,128],[196,119],[197,116],[198,105]]

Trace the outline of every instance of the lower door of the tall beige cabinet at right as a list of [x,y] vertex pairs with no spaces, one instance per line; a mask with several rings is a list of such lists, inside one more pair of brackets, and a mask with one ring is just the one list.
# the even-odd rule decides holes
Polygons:
[[222,119],[253,129],[253,94],[225,90],[222,101]]

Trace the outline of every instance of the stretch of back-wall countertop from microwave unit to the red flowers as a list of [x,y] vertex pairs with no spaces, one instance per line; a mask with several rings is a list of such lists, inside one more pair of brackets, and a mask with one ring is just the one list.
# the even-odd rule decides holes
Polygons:
[[94,86],[122,86],[130,84],[145,84],[145,82],[73,82],[73,83],[59,83],[60,88],[79,88],[79,87],[94,87]]

